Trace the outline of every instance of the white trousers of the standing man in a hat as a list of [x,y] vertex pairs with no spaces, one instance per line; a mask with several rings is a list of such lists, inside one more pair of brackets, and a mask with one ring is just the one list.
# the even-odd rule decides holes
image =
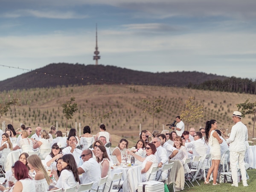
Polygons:
[[232,173],[233,184],[238,185],[238,176],[237,176],[237,164],[241,170],[241,176],[243,183],[246,181],[246,171],[244,167],[244,155],[245,151],[230,151],[230,168]]

